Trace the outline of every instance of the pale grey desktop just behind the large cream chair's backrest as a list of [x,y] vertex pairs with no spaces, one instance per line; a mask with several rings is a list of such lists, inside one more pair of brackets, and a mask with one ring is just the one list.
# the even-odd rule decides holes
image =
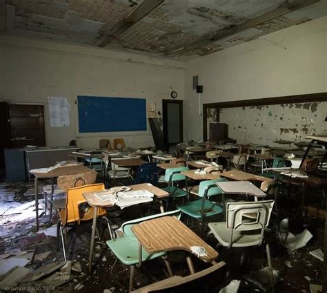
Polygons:
[[258,198],[266,197],[264,191],[249,181],[217,182],[216,185],[226,194],[244,194],[246,196],[254,196],[256,201]]

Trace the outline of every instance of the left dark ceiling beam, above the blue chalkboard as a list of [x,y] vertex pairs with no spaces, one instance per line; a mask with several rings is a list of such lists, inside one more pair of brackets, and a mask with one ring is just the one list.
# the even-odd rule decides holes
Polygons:
[[115,26],[112,26],[108,32],[106,32],[99,41],[95,44],[95,46],[105,47],[107,46],[112,40],[116,39],[119,35],[123,32],[126,32],[128,28],[134,26],[137,21],[146,17],[152,10],[157,8],[164,0],[143,0],[135,10],[132,10],[130,14],[122,19],[121,21],[117,22]]

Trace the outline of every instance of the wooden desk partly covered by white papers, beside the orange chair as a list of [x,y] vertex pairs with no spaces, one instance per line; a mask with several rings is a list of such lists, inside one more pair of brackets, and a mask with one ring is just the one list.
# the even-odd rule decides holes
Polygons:
[[[141,183],[138,185],[130,185],[130,188],[135,191],[135,190],[141,190],[145,189],[151,193],[153,193],[157,198],[159,198],[160,202],[160,212],[164,213],[164,205],[162,204],[161,198],[166,198],[169,196],[169,193],[159,189],[158,187],[155,187],[154,185],[151,185],[150,183]],[[99,192],[99,191],[97,191]],[[91,233],[91,242],[90,242],[90,254],[88,257],[88,270],[89,272],[92,272],[92,259],[93,259],[93,249],[95,246],[95,230],[97,227],[97,214],[98,214],[98,208],[99,207],[112,207],[112,203],[109,201],[103,202],[103,200],[99,200],[95,196],[96,192],[86,192],[83,193],[84,198],[88,202],[88,204],[94,208],[93,211],[93,222],[92,222],[92,233]]]

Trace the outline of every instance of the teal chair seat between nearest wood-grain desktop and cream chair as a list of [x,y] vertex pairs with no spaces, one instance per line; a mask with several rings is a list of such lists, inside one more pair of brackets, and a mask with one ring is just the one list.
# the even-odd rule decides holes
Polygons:
[[[183,205],[177,205],[177,209],[192,218],[201,218],[202,199],[187,202]],[[204,202],[204,216],[210,217],[222,213],[224,210],[221,206],[210,200]]]

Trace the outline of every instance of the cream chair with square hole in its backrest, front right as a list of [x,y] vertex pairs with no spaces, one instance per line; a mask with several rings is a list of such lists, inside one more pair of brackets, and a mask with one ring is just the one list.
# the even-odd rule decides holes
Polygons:
[[[226,222],[209,223],[208,227],[219,243],[224,247],[260,246],[264,241],[264,230],[268,226],[274,200],[259,202],[228,202],[226,205]],[[255,218],[244,215],[256,214]],[[273,266],[270,258],[270,247],[266,243],[268,268],[272,287]]]

